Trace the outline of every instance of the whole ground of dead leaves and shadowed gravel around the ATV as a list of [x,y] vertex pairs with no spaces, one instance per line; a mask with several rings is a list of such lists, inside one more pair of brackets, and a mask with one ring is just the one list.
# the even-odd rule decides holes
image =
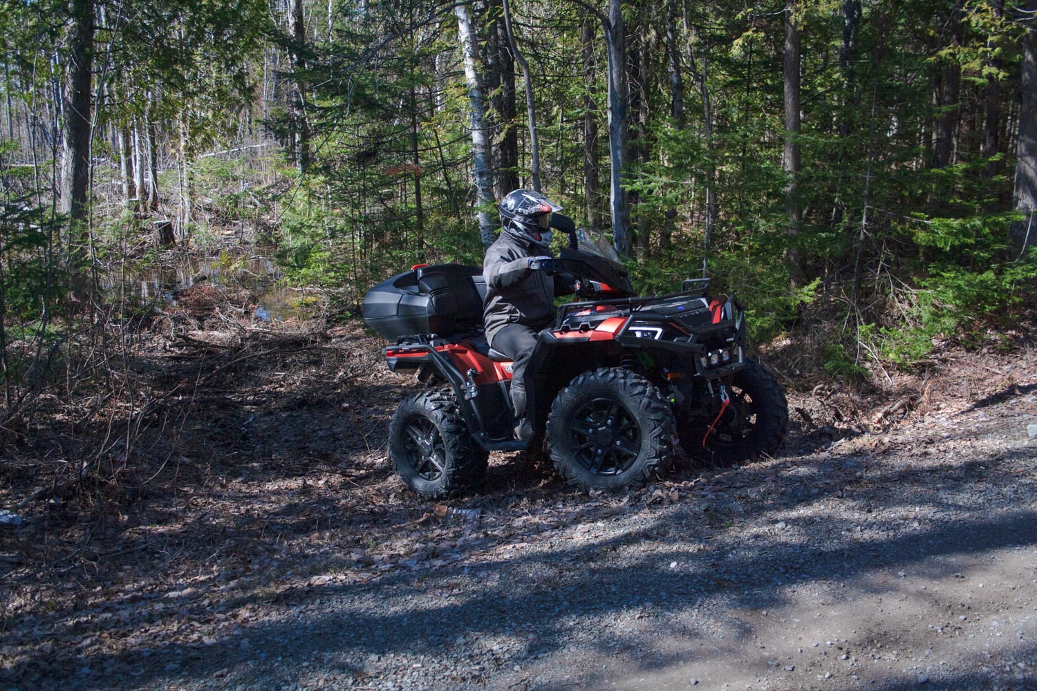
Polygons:
[[3,449],[0,688],[1037,688],[1032,340],[858,388],[770,344],[773,459],[588,495],[494,454],[430,502],[377,338],[204,297],[135,333],[81,480],[72,423]]

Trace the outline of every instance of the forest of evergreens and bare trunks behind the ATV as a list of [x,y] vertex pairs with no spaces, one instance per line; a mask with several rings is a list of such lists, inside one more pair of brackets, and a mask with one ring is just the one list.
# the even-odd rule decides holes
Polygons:
[[[3,0],[0,427],[95,413],[142,267],[261,252],[334,318],[542,190],[833,378],[1011,347],[1037,0]],[[813,351],[812,351],[813,352]],[[86,414],[89,414],[89,410]]]

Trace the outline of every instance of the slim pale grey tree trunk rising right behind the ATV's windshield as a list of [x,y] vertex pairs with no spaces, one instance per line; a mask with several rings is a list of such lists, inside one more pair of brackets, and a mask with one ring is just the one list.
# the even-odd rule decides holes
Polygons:
[[621,254],[629,255],[629,207],[623,193],[626,169],[627,112],[629,98],[626,80],[626,27],[621,0],[609,0],[609,17],[605,22],[605,39],[609,56],[609,197],[612,205],[612,238]]

